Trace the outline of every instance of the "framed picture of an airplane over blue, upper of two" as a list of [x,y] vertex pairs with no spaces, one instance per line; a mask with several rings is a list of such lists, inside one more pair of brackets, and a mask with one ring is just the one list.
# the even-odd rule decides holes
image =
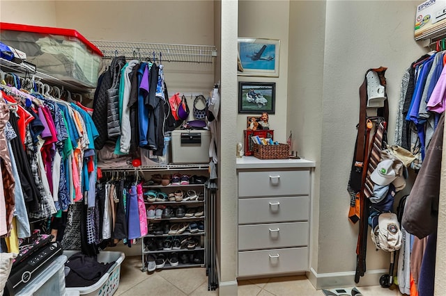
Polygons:
[[279,77],[280,40],[238,38],[238,75]]

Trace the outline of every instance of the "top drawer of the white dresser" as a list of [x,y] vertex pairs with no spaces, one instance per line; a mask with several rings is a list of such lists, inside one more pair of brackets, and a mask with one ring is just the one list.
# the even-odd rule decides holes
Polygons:
[[239,197],[309,195],[309,170],[238,173]]

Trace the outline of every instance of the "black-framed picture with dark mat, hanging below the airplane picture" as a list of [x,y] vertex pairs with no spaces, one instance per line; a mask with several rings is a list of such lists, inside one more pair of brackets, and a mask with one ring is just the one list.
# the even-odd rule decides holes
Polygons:
[[238,113],[275,112],[276,83],[246,82],[238,83]]

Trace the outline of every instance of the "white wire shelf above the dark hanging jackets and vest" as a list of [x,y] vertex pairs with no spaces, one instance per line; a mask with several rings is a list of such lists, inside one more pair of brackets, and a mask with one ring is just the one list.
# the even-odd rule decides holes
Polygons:
[[91,40],[103,58],[125,56],[126,59],[153,60],[160,63],[213,63],[217,49],[213,45],[166,44]]

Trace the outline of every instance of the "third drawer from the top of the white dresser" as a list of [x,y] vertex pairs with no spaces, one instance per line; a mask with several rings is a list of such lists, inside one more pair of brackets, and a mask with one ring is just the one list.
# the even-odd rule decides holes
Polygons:
[[308,245],[308,222],[240,225],[238,250]]

